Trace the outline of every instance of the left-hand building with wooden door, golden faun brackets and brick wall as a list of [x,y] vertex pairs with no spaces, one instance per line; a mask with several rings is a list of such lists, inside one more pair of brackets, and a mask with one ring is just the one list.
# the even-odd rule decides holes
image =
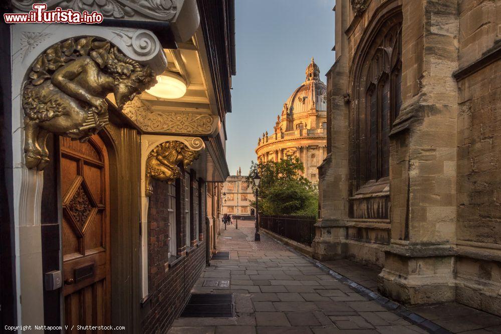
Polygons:
[[2,327],[167,332],[217,246],[234,2],[42,3],[105,19],[0,25]]

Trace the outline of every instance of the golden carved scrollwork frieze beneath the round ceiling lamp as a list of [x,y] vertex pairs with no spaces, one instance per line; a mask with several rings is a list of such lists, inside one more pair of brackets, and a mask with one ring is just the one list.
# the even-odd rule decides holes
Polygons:
[[139,98],[127,103],[123,114],[144,132],[178,135],[213,135],[217,132],[217,116],[187,111],[154,111]]

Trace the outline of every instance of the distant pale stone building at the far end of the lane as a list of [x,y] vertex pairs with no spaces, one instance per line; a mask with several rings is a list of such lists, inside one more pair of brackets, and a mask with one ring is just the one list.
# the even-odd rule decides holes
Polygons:
[[242,175],[238,168],[236,175],[230,175],[222,187],[221,213],[229,215],[254,216],[254,207],[250,201],[254,201],[252,187],[247,183],[247,176]]

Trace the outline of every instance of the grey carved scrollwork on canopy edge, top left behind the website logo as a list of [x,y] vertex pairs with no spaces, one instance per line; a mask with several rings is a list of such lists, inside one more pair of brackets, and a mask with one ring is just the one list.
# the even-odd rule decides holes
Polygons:
[[[40,0],[12,0],[15,9],[29,12],[33,4],[41,3]],[[158,21],[173,19],[177,11],[176,0],[47,0],[48,10],[61,7],[64,10],[83,12],[93,11],[102,13],[105,18],[147,18]]]

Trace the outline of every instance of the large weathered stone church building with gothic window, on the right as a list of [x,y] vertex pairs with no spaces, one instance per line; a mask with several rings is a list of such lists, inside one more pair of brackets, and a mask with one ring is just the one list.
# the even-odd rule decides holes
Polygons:
[[501,3],[338,0],[315,257],[501,314]]

